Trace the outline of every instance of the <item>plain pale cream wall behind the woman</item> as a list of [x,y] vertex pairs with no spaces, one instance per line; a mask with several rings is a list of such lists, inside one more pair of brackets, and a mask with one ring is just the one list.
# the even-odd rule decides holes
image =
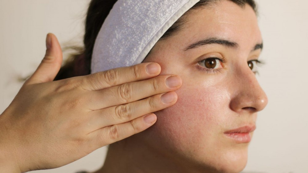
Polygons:
[[[0,0],[0,112],[45,54],[45,36],[80,43],[89,0]],[[258,77],[269,97],[259,114],[245,171],[308,172],[308,1],[257,0],[266,65]],[[67,166],[37,173],[94,171],[106,148]]]

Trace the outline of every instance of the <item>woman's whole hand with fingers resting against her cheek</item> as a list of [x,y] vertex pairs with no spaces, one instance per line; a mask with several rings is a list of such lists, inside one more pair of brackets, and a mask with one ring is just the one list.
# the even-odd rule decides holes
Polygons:
[[46,44],[43,61],[0,116],[2,171],[64,166],[144,131],[156,122],[151,112],[176,103],[181,79],[158,76],[156,63],[53,81],[62,51],[53,34]]

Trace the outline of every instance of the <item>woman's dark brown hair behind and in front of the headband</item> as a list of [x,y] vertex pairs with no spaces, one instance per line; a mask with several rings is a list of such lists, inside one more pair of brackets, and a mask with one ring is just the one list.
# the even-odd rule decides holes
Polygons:
[[[200,0],[191,9],[189,9],[182,17],[180,17],[160,39],[165,39],[176,31],[180,30],[181,26],[185,22],[185,16],[191,10],[200,9],[203,6],[207,6],[210,3],[217,2],[219,0]],[[248,4],[257,13],[257,7],[254,0],[230,0],[237,5],[244,7]],[[59,73],[55,77],[55,80],[64,78],[70,78],[75,76],[82,76],[91,73],[91,58],[94,48],[95,39],[99,33],[103,22],[107,18],[110,10],[117,0],[91,0],[87,11],[87,17],[85,21],[85,35],[83,39],[84,48],[78,49],[79,53],[72,55],[64,66],[61,67]]]

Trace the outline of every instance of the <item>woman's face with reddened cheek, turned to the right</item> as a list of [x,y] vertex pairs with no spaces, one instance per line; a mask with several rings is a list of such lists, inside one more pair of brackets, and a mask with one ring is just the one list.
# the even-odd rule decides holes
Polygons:
[[140,140],[176,162],[241,171],[257,112],[267,104],[252,67],[261,44],[248,5],[222,0],[189,13],[182,29],[157,42],[145,60],[159,63],[162,74],[179,75],[183,85],[177,103],[156,112],[157,123]]

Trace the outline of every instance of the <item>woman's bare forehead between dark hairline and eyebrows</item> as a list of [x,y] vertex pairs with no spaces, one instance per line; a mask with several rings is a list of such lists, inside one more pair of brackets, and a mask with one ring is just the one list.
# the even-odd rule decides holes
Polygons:
[[237,42],[240,46],[247,45],[247,42],[252,45],[262,42],[257,16],[247,4],[241,7],[229,0],[221,0],[192,10],[185,17],[182,29],[174,39],[185,37],[187,42],[193,42],[201,38],[219,37]]

